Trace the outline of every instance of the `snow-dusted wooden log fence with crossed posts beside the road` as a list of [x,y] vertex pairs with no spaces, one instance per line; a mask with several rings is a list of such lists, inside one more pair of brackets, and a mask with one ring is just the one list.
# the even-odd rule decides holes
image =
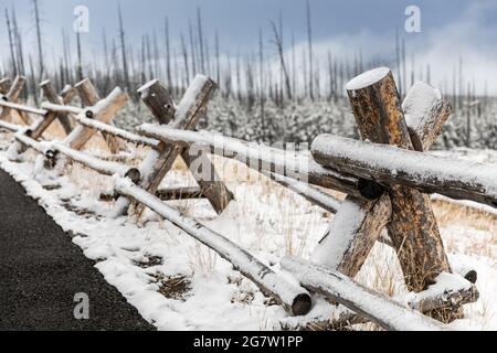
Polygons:
[[[119,175],[114,194],[101,196],[115,202],[112,216],[139,216],[148,207],[173,223],[230,261],[290,315],[302,315],[292,321],[297,322],[293,327],[282,321],[282,328],[324,324],[335,329],[374,322],[387,330],[444,330],[441,321],[457,318],[463,304],[478,299],[476,272],[452,271],[430,194],[497,207],[496,169],[425,153],[452,114],[448,101],[426,84],[416,83],[401,103],[390,69],[377,68],[353,78],[347,90],[362,140],[318,136],[311,153],[306,154],[197,131],[218,88],[202,75],[193,79],[179,105],[157,79],[139,88],[158,124],[145,124],[136,132],[112,122],[128,100],[119,88],[102,98],[91,81],[84,79],[56,94],[45,81],[40,85],[45,101],[33,108],[19,101],[24,83],[23,77],[0,81],[0,128],[14,132],[8,151],[11,160],[22,160],[33,149],[44,156],[46,169],[77,162],[105,175]],[[71,106],[76,94],[83,107]],[[13,111],[25,126],[8,121]],[[43,139],[55,120],[67,135],[61,142]],[[96,133],[103,135],[114,153],[136,145],[149,147],[148,154],[139,167],[130,167],[84,152]],[[282,270],[296,280],[165,202],[207,199],[218,214],[226,208],[233,193],[208,153],[236,159],[335,214],[310,260],[285,257],[281,261]],[[198,188],[159,189],[177,158],[189,167]],[[348,196],[340,201],[326,189]],[[412,292],[408,302],[355,281],[377,242],[395,250]],[[437,282],[447,276],[458,286],[446,288]],[[331,303],[329,313],[309,313],[318,296]],[[346,309],[331,317],[337,304]]]

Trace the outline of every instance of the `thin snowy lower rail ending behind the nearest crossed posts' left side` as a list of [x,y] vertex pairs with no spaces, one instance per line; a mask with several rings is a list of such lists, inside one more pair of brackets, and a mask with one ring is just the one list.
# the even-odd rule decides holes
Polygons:
[[271,179],[282,184],[283,186],[296,192],[311,204],[315,204],[330,213],[337,213],[337,210],[341,205],[341,201],[337,197],[296,179],[279,175],[276,173],[271,173]]

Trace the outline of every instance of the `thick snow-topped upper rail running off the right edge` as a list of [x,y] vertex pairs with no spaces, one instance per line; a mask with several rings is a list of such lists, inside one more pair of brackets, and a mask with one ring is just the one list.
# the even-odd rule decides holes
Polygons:
[[470,200],[497,207],[497,165],[457,160],[321,135],[313,143],[315,159],[332,169],[389,185]]

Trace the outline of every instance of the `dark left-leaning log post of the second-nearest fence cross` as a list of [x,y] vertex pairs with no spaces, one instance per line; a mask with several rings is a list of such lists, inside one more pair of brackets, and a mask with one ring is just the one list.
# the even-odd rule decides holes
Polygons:
[[[150,109],[157,120],[160,121],[160,124],[171,124],[176,116],[176,108],[166,87],[163,87],[158,81],[152,81],[138,89],[138,93],[141,95],[141,100]],[[204,109],[207,109],[207,104],[208,101],[204,104]],[[190,129],[193,128],[194,126]],[[181,151],[181,158],[199,184],[202,195],[209,200],[215,212],[219,214],[223,212],[228,204],[233,200],[233,194],[220,180],[218,173],[215,172],[214,165],[211,163],[205,153],[201,152],[199,156],[191,156],[189,149],[183,149]],[[195,168],[195,165],[200,165],[202,170]],[[204,173],[203,169],[207,169],[208,172]],[[154,184],[157,184],[157,182]]]

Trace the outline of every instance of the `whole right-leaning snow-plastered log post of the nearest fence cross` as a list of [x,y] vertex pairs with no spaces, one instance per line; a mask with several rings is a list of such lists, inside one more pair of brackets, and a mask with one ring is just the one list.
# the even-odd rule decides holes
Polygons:
[[[441,135],[452,106],[437,89],[419,82],[409,92],[403,110],[411,139],[416,141],[416,150],[423,151]],[[353,278],[390,222],[391,208],[388,194],[371,202],[348,196],[314,252],[313,260]]]

